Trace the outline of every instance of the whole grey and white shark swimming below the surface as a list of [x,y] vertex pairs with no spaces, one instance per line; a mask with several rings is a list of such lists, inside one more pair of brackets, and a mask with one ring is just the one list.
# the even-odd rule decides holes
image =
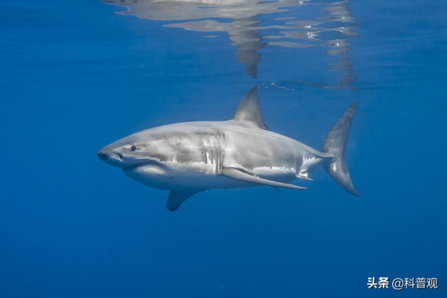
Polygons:
[[124,137],[98,156],[119,167],[131,179],[170,191],[167,207],[175,211],[199,191],[213,188],[306,189],[287,184],[318,165],[353,195],[359,195],[349,177],[344,148],[357,110],[353,103],[318,151],[306,144],[269,131],[261,116],[257,87],[242,99],[229,121],[171,124]]

